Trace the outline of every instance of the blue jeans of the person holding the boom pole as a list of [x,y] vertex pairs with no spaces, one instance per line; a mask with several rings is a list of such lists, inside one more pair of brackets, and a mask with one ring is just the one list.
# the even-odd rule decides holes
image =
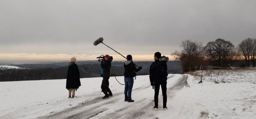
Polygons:
[[133,78],[124,78],[124,84],[124,99],[132,99]]

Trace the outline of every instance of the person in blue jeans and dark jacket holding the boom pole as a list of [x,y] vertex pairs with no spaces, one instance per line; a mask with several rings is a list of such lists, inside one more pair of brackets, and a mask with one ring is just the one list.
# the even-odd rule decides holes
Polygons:
[[[138,69],[135,67],[135,64],[133,63],[132,55],[127,55],[127,61],[124,62],[124,101],[127,102],[134,102],[132,100],[132,89],[133,89],[133,77],[136,76],[136,72],[140,71],[142,67],[140,66]],[[127,95],[128,94],[128,95]]]

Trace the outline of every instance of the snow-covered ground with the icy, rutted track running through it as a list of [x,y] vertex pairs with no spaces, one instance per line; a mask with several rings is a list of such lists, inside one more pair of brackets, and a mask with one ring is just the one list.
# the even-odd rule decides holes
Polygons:
[[[162,110],[161,89],[159,111],[152,109],[154,90],[149,76],[137,76],[134,81],[133,103],[123,101],[124,86],[114,77],[109,79],[113,92],[109,99],[101,99],[102,78],[80,79],[82,86],[73,99],[68,99],[66,79],[0,82],[0,118],[255,119],[255,70],[220,72],[204,72],[201,84],[199,76],[169,74],[166,111]],[[123,77],[117,79],[124,83]]]

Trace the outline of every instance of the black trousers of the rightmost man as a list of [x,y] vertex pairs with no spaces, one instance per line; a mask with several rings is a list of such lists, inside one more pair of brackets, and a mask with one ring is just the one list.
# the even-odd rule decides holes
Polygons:
[[158,107],[158,94],[159,94],[159,89],[160,89],[160,85],[162,88],[162,95],[163,95],[163,107],[166,107],[166,102],[167,102],[167,87],[166,87],[167,81],[163,81],[163,82],[154,82],[154,86],[155,86],[155,107]]

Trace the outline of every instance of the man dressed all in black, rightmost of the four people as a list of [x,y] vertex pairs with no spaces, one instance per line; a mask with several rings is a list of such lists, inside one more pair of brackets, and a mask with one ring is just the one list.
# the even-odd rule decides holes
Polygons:
[[163,94],[163,110],[167,110],[166,107],[166,102],[167,102],[167,64],[165,61],[159,61],[159,58],[161,58],[161,53],[156,52],[154,55],[155,62],[153,62],[150,65],[150,70],[149,70],[149,79],[150,79],[150,84],[152,86],[155,86],[155,106],[153,107],[154,110],[158,110],[158,94],[159,94],[159,89],[160,85],[162,88],[162,94]]

